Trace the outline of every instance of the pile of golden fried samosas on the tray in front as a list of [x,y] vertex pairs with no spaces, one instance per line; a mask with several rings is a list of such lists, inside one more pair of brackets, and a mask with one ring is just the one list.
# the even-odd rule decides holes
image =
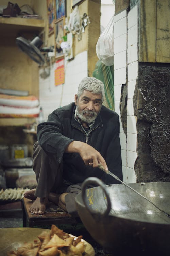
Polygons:
[[33,243],[25,242],[16,252],[11,251],[7,256],[83,256],[86,244],[82,236],[74,237],[51,226],[50,232],[43,231]]

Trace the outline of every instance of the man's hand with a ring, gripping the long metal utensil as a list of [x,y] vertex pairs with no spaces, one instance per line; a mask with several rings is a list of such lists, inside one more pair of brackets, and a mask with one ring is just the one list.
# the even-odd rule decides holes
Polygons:
[[81,141],[72,141],[67,147],[65,152],[67,153],[79,153],[83,159],[85,165],[91,165],[93,167],[98,167],[99,163],[102,164],[105,171],[108,170],[106,162],[101,154],[95,150],[92,146],[81,142]]

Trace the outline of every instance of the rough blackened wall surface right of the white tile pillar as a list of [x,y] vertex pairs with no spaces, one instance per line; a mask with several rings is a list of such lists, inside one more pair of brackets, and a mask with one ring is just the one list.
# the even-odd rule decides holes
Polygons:
[[140,63],[133,97],[137,182],[170,181],[170,65]]

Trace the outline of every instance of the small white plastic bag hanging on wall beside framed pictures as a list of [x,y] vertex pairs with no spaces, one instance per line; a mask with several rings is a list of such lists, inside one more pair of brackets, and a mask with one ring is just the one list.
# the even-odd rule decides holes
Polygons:
[[72,13],[70,13],[68,30],[72,33],[77,33],[80,30],[80,13],[77,5],[75,6]]

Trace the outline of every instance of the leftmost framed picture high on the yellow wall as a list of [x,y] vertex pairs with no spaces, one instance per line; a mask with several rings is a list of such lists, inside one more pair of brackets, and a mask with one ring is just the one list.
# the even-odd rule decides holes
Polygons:
[[55,0],[47,0],[47,15],[49,35],[54,33],[54,20],[56,19]]

